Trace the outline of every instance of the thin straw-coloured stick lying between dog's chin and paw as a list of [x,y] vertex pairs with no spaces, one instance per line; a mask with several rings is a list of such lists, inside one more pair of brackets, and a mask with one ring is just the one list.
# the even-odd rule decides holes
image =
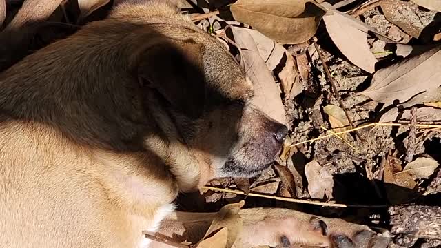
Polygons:
[[203,186],[201,187],[202,190],[212,190],[215,192],[227,192],[227,193],[233,193],[233,194],[240,194],[240,195],[247,195],[247,196],[256,196],[260,198],[269,198],[274,200],[283,200],[290,203],[303,203],[303,204],[309,204],[309,205],[319,205],[322,207],[366,207],[366,208],[380,208],[380,207],[390,207],[389,205],[350,205],[350,204],[341,204],[341,203],[322,203],[315,200],[301,200],[301,199],[294,199],[294,198],[287,198],[287,197],[280,197],[280,196],[269,196],[266,194],[256,194],[256,193],[249,193],[246,194],[245,192],[241,190],[235,190],[235,189],[221,189],[217,187],[209,187],[209,186]]

